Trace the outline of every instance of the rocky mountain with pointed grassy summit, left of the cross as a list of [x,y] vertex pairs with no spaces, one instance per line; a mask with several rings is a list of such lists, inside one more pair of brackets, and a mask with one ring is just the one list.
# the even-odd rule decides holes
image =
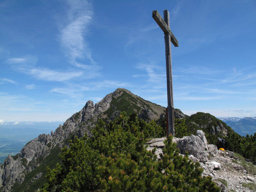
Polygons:
[[[0,164],[0,187],[1,192],[11,191],[15,183],[22,184],[27,173],[40,166],[40,159],[46,158],[50,151],[56,146],[62,148],[72,136],[91,136],[91,129],[95,126],[99,118],[108,117],[110,120],[119,115],[119,112],[128,110],[120,108],[116,104],[119,100],[126,102],[127,106],[132,106],[144,120],[160,118],[165,108],[132,94],[122,88],[116,89],[113,93],[107,94],[100,102],[94,103],[89,100],[80,112],[72,115],[63,126],[60,125],[51,134],[41,134],[38,138],[30,141],[22,148],[16,156],[9,155],[3,164]],[[118,110],[116,110],[118,108]],[[38,160],[39,159],[39,160]],[[42,173],[37,174],[31,182],[40,179]]]

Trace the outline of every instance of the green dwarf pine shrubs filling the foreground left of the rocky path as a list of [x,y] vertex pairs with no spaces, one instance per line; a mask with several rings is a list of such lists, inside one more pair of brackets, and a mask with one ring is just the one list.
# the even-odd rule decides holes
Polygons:
[[199,163],[181,156],[172,136],[157,160],[144,148],[148,138],[164,136],[155,122],[134,114],[105,124],[102,120],[92,138],[75,138],[63,148],[62,162],[48,168],[41,192],[219,192],[210,177],[202,177]]

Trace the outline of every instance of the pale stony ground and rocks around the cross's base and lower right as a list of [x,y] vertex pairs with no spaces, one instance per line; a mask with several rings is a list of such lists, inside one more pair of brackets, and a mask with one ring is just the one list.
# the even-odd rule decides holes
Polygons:
[[[207,140],[204,137],[202,131],[197,132],[198,136],[189,136],[183,138],[173,138],[173,142],[182,143],[185,142],[182,146],[182,150],[185,150],[184,146],[190,144],[191,148],[198,148],[198,146],[205,147],[205,142]],[[184,139],[185,138],[185,139]],[[199,138],[201,141],[199,141]],[[152,150],[156,148],[155,154],[158,159],[161,158],[164,145],[164,140],[166,138],[154,138],[147,142],[147,150]],[[198,144],[200,143],[200,144]],[[256,166],[250,162],[247,162],[241,157],[236,156],[231,151],[222,151],[218,150],[216,146],[210,144],[207,146],[208,150],[204,150],[204,152],[208,156],[208,160],[205,162],[200,162],[200,166],[204,169],[202,175],[203,176],[211,176],[214,182],[220,187],[220,192],[228,192],[228,191],[236,191],[236,192],[253,192],[244,184],[253,184],[256,181]],[[194,153],[194,151],[190,151],[190,153]],[[184,156],[184,153],[181,154]],[[193,162],[200,161],[200,159],[196,158],[193,154],[188,156]],[[239,159],[240,158],[240,159]],[[247,171],[248,170],[248,171]]]

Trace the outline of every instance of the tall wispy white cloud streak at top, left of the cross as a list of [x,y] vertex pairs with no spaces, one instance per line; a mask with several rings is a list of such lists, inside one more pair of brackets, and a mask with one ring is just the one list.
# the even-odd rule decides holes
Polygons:
[[[67,22],[60,27],[60,44],[70,64],[85,70],[98,70],[100,67],[92,58],[92,51],[86,39],[88,26],[92,22],[93,8],[87,0],[67,0]],[[87,58],[90,64],[82,64],[77,59]]]

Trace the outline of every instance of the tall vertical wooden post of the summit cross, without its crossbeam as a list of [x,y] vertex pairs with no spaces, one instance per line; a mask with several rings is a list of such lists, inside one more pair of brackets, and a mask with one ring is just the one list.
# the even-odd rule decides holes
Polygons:
[[[170,28],[170,15],[168,10],[164,10],[164,21]],[[168,132],[174,136],[174,108],[172,94],[172,54],[171,54],[171,36],[164,33],[165,58],[166,58],[166,77],[167,77],[167,101],[168,101]],[[166,122],[167,124],[167,122]]]

